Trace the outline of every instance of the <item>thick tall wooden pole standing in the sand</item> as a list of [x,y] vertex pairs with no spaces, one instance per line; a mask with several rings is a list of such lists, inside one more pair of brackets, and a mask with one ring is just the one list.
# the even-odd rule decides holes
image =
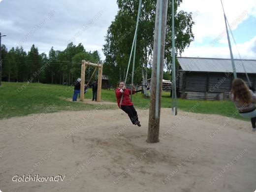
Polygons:
[[[161,15],[160,18],[160,1],[161,3]],[[162,75],[163,75],[163,59],[164,59],[164,46],[165,46],[165,33],[166,33],[166,18],[167,18],[167,5],[168,0],[157,0],[157,13],[155,22],[155,34],[154,34],[154,48],[153,48],[153,66],[151,75],[151,96],[150,96],[150,110],[149,110],[149,125],[148,125],[148,138],[147,142],[157,143],[159,142],[159,127],[160,127],[160,109],[161,109],[161,90],[162,90]],[[159,35],[159,23],[161,23],[161,32]],[[160,55],[158,54],[158,41],[160,38]],[[158,57],[160,57],[160,64],[157,65]],[[160,67],[160,74],[157,75],[157,67]],[[159,85],[157,86],[157,76],[160,77]],[[157,87],[159,88],[159,96],[157,96]],[[158,109],[156,108],[156,100],[158,99]],[[158,115],[156,118],[156,110]]]

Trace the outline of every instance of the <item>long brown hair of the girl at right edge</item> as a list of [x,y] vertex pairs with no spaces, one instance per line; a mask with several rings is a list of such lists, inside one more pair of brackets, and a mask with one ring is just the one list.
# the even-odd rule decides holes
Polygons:
[[234,94],[234,100],[237,98],[240,103],[252,102],[250,91],[246,83],[240,78],[233,80],[231,93]]

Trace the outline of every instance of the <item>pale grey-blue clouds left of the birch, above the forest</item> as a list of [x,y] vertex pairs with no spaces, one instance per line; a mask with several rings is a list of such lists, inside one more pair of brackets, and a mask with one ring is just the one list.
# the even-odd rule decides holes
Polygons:
[[[51,19],[45,22],[40,29],[33,31],[33,34],[22,46],[27,52],[30,51],[32,44],[38,47],[39,53],[48,54],[52,46],[55,50],[62,51],[66,48],[66,42],[101,11],[102,15],[96,18],[94,23],[80,33],[77,38],[73,39],[75,45],[82,43],[88,51],[95,51],[94,48],[101,51],[102,45],[105,43],[104,36],[107,28],[114,20],[117,10],[114,0],[27,0],[26,2],[4,0],[0,4],[0,29],[2,34],[6,34],[7,37],[2,39],[2,43],[8,50],[19,46],[17,42],[33,31],[33,27],[51,11],[55,11]],[[103,54],[101,55],[103,56]]]

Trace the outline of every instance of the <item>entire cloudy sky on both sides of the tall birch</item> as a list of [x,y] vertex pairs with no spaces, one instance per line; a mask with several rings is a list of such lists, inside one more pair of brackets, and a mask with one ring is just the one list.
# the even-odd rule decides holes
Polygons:
[[[143,1],[142,1],[143,3]],[[255,0],[223,0],[235,59],[256,59]],[[221,0],[183,0],[179,10],[192,12],[194,41],[183,57],[230,58]],[[116,0],[0,0],[1,43],[9,49],[34,44],[48,55],[51,47],[63,51],[67,43],[82,43],[99,51],[114,20]],[[238,51],[237,51],[238,50]]]

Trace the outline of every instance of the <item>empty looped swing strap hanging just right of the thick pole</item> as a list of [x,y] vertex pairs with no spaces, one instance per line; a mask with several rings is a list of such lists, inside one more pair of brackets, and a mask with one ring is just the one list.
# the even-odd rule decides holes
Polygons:
[[[176,66],[175,66],[175,34],[174,34],[174,0],[172,0],[172,113],[177,115],[178,103],[176,94]],[[175,106],[174,106],[175,105]]]

